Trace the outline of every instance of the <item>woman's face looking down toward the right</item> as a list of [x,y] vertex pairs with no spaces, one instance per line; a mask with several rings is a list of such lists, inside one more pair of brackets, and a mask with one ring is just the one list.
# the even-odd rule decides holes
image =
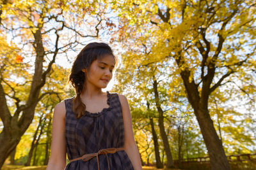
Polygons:
[[93,85],[97,88],[106,88],[113,76],[115,59],[112,55],[105,55],[100,60],[94,60],[86,71],[86,86]]

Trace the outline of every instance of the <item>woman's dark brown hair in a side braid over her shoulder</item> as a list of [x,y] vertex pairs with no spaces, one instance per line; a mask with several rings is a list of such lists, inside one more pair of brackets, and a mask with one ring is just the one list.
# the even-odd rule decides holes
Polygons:
[[76,118],[83,116],[86,110],[85,104],[82,103],[80,94],[83,92],[85,74],[82,69],[89,69],[93,60],[102,59],[105,55],[113,55],[113,51],[110,46],[106,43],[89,43],[84,46],[81,52],[77,55],[71,69],[71,73],[68,81],[71,82],[72,86],[76,90],[76,96],[73,99],[73,112]]

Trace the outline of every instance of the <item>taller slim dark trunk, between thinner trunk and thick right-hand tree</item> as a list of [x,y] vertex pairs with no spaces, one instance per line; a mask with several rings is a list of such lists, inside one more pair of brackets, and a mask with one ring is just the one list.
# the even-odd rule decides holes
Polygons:
[[155,80],[154,76],[153,76],[153,79],[154,79],[153,87],[154,87],[154,94],[155,94],[155,100],[156,100],[156,107],[157,107],[157,111],[159,113],[158,125],[159,125],[159,129],[160,129],[161,138],[163,139],[164,150],[165,150],[166,158],[167,158],[166,167],[174,168],[170,145],[169,145],[168,138],[167,138],[167,135],[166,135],[166,132],[164,129],[163,110],[161,108],[161,104],[159,101],[159,94],[158,94],[158,90],[157,90],[157,81]]

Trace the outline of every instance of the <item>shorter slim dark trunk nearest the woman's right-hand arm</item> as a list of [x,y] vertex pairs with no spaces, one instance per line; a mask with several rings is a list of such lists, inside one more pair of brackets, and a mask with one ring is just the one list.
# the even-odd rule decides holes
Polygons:
[[155,131],[155,127],[154,127],[154,121],[153,118],[149,118],[150,120],[150,125],[151,125],[151,130],[152,130],[152,136],[153,136],[153,141],[154,141],[154,150],[155,150],[155,155],[156,155],[156,167],[157,168],[163,168],[163,163],[161,162],[161,158],[160,158],[160,153],[159,153],[159,144],[157,141],[157,134]]

